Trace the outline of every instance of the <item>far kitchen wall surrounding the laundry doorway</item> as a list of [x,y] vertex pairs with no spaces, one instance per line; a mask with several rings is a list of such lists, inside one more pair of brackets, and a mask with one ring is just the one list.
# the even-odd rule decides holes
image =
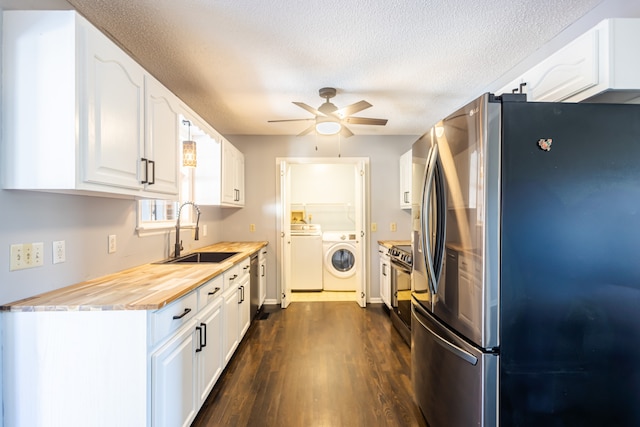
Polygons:
[[[326,139],[325,139],[326,138]],[[370,159],[369,208],[371,222],[378,231],[370,234],[369,298],[379,298],[378,240],[409,240],[411,215],[399,207],[399,158],[417,139],[415,136],[353,136],[340,143],[335,138],[315,136],[240,136],[230,135],[229,141],[245,155],[246,206],[223,211],[224,240],[267,240],[270,242],[267,277],[267,299],[277,300],[276,283],[276,174],[277,157],[368,157]],[[389,230],[391,222],[398,225]],[[249,224],[256,231],[249,231]]]

